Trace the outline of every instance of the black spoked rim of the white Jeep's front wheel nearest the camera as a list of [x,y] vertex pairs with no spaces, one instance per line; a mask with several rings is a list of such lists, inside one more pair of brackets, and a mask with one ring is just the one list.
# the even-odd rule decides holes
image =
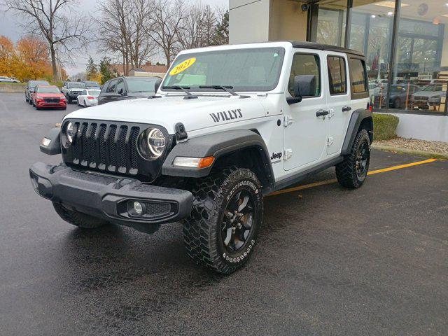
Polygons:
[[235,192],[225,208],[221,238],[229,252],[244,248],[251,237],[254,221],[253,197],[248,190]]

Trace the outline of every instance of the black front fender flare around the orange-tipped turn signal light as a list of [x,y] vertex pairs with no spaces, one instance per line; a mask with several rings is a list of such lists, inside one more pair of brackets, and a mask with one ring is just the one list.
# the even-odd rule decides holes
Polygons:
[[223,155],[246,148],[255,148],[260,153],[263,171],[267,176],[269,185],[273,185],[274,173],[272,172],[269,151],[267,151],[265,141],[260,137],[260,134],[251,130],[229,130],[205,134],[176,144],[163,163],[162,175],[204,177],[209,175],[213,165],[202,169],[175,167],[173,165],[174,159],[177,156],[187,158],[207,158],[213,156],[215,158],[214,163],[216,163]]

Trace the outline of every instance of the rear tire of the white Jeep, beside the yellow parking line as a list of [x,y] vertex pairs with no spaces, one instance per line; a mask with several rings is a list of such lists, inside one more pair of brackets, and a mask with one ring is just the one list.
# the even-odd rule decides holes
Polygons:
[[370,137],[366,130],[356,134],[351,152],[336,165],[336,177],[341,186],[356,189],[363,185],[370,165]]

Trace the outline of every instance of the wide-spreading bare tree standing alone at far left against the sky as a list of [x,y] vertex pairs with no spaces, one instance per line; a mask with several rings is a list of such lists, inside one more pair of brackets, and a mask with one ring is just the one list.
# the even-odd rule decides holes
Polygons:
[[[37,34],[48,42],[53,80],[57,80],[57,62],[62,52],[71,61],[71,55],[79,46],[87,43],[87,22],[83,16],[73,16],[76,0],[5,0],[8,10],[20,15],[20,23],[29,34]],[[64,13],[69,13],[66,17]]]

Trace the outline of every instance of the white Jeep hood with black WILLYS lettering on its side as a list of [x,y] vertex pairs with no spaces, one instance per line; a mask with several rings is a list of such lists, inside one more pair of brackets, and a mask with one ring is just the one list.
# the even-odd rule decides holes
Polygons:
[[190,132],[265,116],[265,109],[261,104],[264,97],[183,97],[185,96],[127,99],[80,109],[65,116],[64,120],[76,118],[154,124],[161,125],[169,134],[174,134],[176,123],[183,123],[186,131]]

